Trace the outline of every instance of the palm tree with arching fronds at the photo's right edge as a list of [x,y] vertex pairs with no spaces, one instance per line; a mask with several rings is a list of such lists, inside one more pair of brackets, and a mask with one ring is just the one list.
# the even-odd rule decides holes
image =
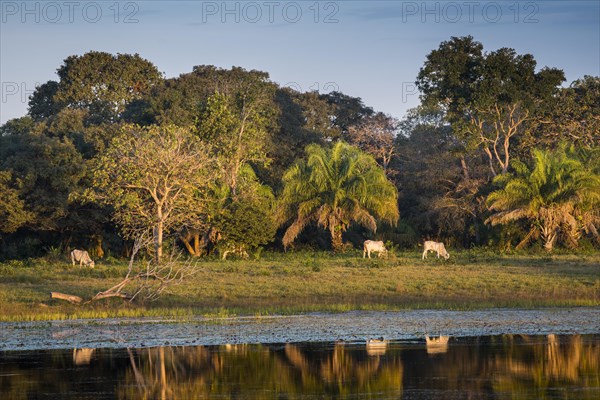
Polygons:
[[517,248],[540,236],[547,251],[552,251],[558,239],[576,247],[582,232],[598,239],[600,175],[565,145],[554,151],[536,149],[533,160],[532,171],[524,164],[515,164],[515,174],[494,180],[503,188],[487,198],[494,214],[486,223],[530,221],[529,233]]

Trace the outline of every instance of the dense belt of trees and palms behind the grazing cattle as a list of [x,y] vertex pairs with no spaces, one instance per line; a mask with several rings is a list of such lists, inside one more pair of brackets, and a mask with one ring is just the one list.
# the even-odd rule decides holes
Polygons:
[[[338,251],[342,233],[356,245],[365,227],[403,248],[424,238],[517,252],[517,238],[599,243],[599,207],[583,195],[573,160],[600,174],[600,78],[560,88],[561,70],[540,69],[511,48],[484,51],[471,36],[442,42],[417,77],[422,105],[399,130],[359,97],[300,93],[239,67],[199,65],[163,79],[137,54],[89,52],[66,58],[58,75],[36,88],[27,116],[0,127],[2,258],[92,241],[117,255],[124,237],[159,226],[165,235],[186,232],[196,256],[215,246],[258,254],[286,224],[286,246],[325,247],[329,235]],[[175,151],[176,130],[197,160]],[[373,155],[396,188],[365,172],[376,165],[364,155],[339,150],[339,138]],[[530,149],[556,150],[564,139],[575,148],[552,156],[562,166],[540,167],[555,177],[539,185],[546,200],[530,208],[527,199],[489,200],[499,208],[489,219],[496,226],[485,226],[493,176],[503,190],[513,178],[531,189],[538,159]],[[312,154],[301,160],[307,146]],[[172,192],[148,190],[175,181]],[[567,200],[549,200],[553,190]],[[515,202],[529,196],[514,191]],[[281,193],[277,207],[273,193]],[[397,197],[403,222],[378,226],[397,220]],[[517,218],[511,208],[530,211]]]

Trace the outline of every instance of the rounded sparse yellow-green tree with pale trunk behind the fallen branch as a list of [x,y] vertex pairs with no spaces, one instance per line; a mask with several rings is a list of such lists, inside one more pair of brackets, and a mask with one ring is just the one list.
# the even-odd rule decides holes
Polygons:
[[150,230],[160,260],[165,234],[203,211],[198,191],[214,178],[209,152],[185,128],[126,126],[94,169],[95,196],[115,208],[126,237]]

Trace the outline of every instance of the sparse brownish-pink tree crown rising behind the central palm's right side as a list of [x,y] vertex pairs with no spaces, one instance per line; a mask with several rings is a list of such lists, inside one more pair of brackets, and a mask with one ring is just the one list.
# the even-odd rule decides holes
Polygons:
[[383,168],[386,175],[394,175],[389,169],[390,162],[396,155],[395,139],[399,121],[390,115],[377,113],[365,117],[357,125],[348,128],[350,143],[371,154]]

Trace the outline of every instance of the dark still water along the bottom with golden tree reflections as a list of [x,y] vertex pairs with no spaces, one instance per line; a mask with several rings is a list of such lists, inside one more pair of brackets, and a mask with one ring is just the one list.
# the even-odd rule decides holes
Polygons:
[[600,335],[443,341],[385,342],[376,354],[365,342],[7,351],[0,392],[3,399],[599,398]]

